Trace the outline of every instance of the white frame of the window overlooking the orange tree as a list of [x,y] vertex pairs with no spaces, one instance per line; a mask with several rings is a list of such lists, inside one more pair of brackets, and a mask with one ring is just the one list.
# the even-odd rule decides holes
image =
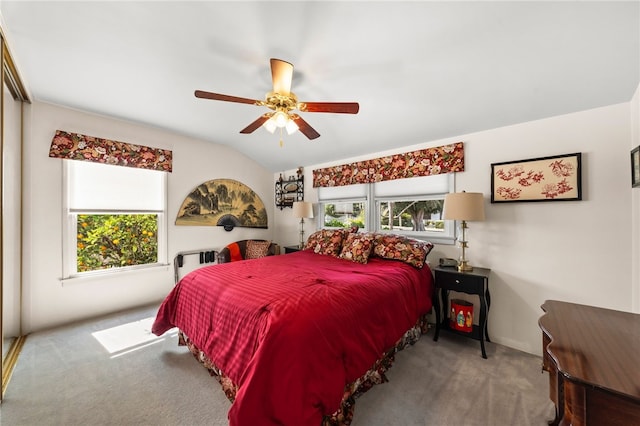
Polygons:
[[[113,274],[126,273],[128,271],[137,271],[141,269],[149,269],[158,266],[167,265],[167,173],[162,173],[161,177],[161,190],[162,190],[162,210],[157,209],[89,209],[89,208],[70,208],[69,196],[70,196],[70,167],[73,167],[73,162],[78,160],[63,160],[63,189],[62,189],[62,279],[67,280],[70,278],[83,278],[94,276],[108,276]],[[122,167],[122,166],[111,166]],[[152,172],[150,170],[150,172]],[[105,269],[98,269],[94,271],[78,272],[78,250],[77,250],[77,235],[78,235],[78,215],[83,214],[109,214],[109,215],[127,215],[127,214],[154,214],[157,215],[158,220],[158,248],[157,259],[154,263],[147,263],[143,265],[131,265],[131,266],[119,266]]]

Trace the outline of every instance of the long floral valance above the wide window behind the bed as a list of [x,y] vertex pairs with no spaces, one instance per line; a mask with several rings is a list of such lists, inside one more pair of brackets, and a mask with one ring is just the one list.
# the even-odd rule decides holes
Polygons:
[[344,186],[464,171],[462,142],[313,171],[313,187]]

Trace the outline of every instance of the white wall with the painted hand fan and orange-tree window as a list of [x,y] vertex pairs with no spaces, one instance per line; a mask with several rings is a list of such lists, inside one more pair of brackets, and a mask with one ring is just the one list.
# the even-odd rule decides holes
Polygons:
[[[24,304],[26,333],[103,313],[161,301],[173,286],[171,265],[109,278],[62,277],[62,161],[49,158],[57,129],[173,151],[168,176],[169,263],[179,251],[219,249],[244,238],[273,235],[272,173],[244,155],[209,142],[59,106],[27,107],[24,182]],[[197,185],[218,178],[253,189],[267,208],[269,229],[175,226],[184,198]],[[182,275],[182,272],[181,272]]]

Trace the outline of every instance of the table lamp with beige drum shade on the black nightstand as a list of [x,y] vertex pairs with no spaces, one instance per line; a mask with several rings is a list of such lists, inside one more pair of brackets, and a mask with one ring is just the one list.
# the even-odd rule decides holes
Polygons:
[[444,197],[444,220],[460,220],[461,235],[458,241],[462,248],[462,255],[458,262],[458,271],[473,271],[473,267],[465,255],[467,248],[467,221],[484,220],[484,199],[481,192],[453,192]]

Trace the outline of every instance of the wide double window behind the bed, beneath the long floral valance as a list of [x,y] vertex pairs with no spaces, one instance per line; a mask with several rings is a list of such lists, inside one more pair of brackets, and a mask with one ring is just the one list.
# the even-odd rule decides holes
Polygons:
[[319,188],[324,217],[319,218],[318,225],[324,228],[357,225],[365,230],[453,244],[454,224],[442,219],[444,197],[453,187],[454,176],[450,173]]

